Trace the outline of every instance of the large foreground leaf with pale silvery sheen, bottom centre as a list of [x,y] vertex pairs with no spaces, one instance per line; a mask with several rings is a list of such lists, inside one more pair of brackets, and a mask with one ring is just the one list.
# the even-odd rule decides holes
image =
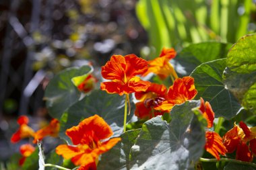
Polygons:
[[[131,169],[190,169],[203,154],[205,121],[192,108],[199,101],[175,105],[170,124],[160,116],[143,124],[135,148],[131,149]],[[202,122],[199,122],[203,120]]]

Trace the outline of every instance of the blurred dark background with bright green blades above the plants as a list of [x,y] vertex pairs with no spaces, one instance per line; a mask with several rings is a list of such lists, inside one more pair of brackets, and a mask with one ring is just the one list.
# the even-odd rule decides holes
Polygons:
[[[255,0],[0,0],[0,161],[17,151],[16,120],[47,120],[44,88],[59,71],[112,54],[234,43],[256,30]],[[11,148],[11,150],[10,150]]]

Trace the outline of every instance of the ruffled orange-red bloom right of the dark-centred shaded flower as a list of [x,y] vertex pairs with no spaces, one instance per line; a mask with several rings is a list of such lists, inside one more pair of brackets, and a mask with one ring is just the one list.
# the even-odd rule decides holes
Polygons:
[[170,112],[175,104],[184,103],[193,99],[197,95],[193,77],[183,77],[175,79],[172,86],[169,87],[166,100],[156,106],[156,110]]

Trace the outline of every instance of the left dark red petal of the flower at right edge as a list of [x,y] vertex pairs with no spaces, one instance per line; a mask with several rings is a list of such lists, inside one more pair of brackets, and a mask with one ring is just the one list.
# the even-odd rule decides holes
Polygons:
[[223,136],[223,144],[227,149],[227,153],[232,153],[236,150],[241,138],[238,136],[238,126],[228,130]]

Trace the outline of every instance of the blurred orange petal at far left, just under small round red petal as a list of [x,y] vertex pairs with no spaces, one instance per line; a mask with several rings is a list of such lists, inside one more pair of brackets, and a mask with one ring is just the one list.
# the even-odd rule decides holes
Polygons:
[[11,142],[19,142],[22,138],[34,137],[34,130],[27,124],[22,124],[20,128],[11,136]]

